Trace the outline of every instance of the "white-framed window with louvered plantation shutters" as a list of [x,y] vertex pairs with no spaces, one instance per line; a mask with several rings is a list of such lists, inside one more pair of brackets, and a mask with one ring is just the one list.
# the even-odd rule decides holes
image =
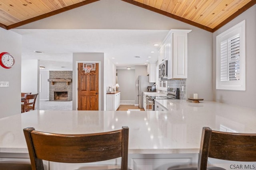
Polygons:
[[245,20],[216,37],[216,89],[245,90]]

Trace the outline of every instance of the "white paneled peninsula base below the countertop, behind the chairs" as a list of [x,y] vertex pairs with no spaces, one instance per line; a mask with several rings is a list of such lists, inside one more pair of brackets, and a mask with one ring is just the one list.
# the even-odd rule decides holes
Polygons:
[[[28,153],[0,152],[0,162],[30,163]],[[132,170],[168,170],[176,168],[196,167],[198,153],[167,154],[128,154],[128,168]],[[45,170],[84,170],[120,168],[121,159],[105,160],[93,163],[59,163],[43,160]],[[235,162],[208,158],[208,166],[220,166],[225,169],[255,169],[255,162]]]

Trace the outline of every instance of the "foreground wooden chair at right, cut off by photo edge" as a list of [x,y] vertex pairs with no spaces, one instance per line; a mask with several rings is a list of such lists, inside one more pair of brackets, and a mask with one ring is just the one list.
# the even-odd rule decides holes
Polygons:
[[221,132],[203,127],[198,167],[178,168],[176,170],[225,170],[216,166],[208,167],[208,157],[220,160],[256,162],[256,133]]

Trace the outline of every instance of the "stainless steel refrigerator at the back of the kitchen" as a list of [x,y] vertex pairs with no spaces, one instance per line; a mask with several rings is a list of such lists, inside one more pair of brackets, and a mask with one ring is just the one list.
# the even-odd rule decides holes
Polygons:
[[147,91],[148,86],[154,86],[154,83],[149,82],[149,76],[138,76],[139,108],[143,108],[143,92]]

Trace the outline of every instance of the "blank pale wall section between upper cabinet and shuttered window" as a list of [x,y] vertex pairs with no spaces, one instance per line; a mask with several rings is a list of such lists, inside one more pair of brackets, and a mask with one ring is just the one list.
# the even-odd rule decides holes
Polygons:
[[212,101],[212,33],[192,29],[188,33],[188,78],[186,97]]

